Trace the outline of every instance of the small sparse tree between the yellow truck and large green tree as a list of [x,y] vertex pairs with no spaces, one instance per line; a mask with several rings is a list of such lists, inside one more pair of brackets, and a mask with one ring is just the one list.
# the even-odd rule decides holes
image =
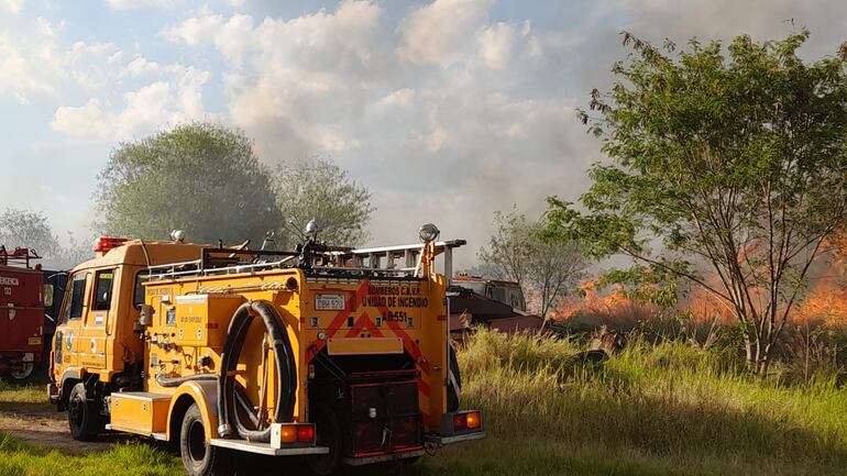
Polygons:
[[479,269],[515,281],[524,290],[530,309],[544,321],[563,297],[585,277],[584,251],[573,240],[550,240],[544,221],[530,222],[522,213],[495,212],[495,232],[480,248]]

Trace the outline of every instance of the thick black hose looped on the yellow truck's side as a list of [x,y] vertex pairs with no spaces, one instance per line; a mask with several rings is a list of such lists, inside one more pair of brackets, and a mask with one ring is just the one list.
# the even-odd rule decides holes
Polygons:
[[221,368],[218,376],[218,433],[223,438],[232,435],[232,424],[239,436],[249,441],[270,442],[271,428],[251,430],[245,428],[235,411],[237,383],[234,370],[239,363],[253,317],[258,314],[271,336],[276,373],[279,376],[279,391],[275,406],[274,421],[285,422],[294,419],[294,402],[297,392],[297,366],[292,351],[292,342],[285,330],[279,312],[268,301],[251,301],[239,307],[227,330],[227,341],[221,354]]

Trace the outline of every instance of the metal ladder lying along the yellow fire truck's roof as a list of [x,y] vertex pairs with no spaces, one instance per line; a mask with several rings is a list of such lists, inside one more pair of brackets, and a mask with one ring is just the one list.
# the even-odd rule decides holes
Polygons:
[[[443,254],[444,276],[453,274],[453,248],[464,240],[435,243],[435,254]],[[253,273],[267,269],[300,267],[311,276],[420,278],[420,254],[424,243],[407,245],[349,248],[326,246],[311,250],[309,263],[302,263],[298,252],[268,250],[234,250],[206,247],[200,259],[150,266],[152,279],[174,279],[189,276],[211,276]]]

